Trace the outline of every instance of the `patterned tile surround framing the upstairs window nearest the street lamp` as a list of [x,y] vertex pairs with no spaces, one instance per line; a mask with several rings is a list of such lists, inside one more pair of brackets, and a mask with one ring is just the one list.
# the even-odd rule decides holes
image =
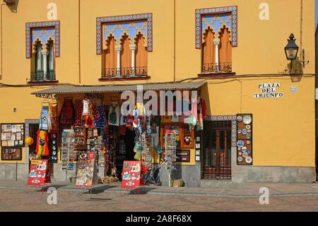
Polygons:
[[196,49],[202,47],[202,16],[220,13],[231,13],[232,16],[232,47],[237,47],[237,6],[224,6],[217,8],[196,9]]

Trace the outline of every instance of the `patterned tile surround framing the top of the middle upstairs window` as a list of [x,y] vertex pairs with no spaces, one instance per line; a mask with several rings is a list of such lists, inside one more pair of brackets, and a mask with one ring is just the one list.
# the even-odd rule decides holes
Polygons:
[[124,16],[105,16],[96,18],[96,54],[102,55],[102,23],[147,20],[147,50],[153,52],[153,13],[131,14]]

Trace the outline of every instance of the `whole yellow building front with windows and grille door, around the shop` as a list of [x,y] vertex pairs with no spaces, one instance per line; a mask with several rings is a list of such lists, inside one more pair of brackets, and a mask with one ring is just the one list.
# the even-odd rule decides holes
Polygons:
[[[199,145],[189,149],[190,161],[180,164],[186,186],[211,186],[214,179],[237,183],[315,181],[314,0],[13,2],[1,5],[0,123],[25,123],[29,130],[32,122],[37,123],[41,103],[52,101],[41,93],[47,89],[58,93],[64,86],[83,86],[83,91],[57,95],[61,111],[64,97],[83,98],[87,86],[164,87],[160,83],[201,82],[198,91],[206,102],[206,118]],[[139,22],[145,27],[139,27]],[[146,65],[140,67],[146,71],[139,76],[127,69],[133,75],[127,78],[122,70],[118,79],[118,56],[122,60],[119,63],[124,64],[124,53],[121,50],[117,55],[113,49],[108,57],[115,59],[114,67],[109,70],[104,51],[112,35],[117,44],[116,35],[126,32],[131,36],[133,26],[125,27],[131,23],[136,24],[134,38],[139,37],[138,32],[144,38],[145,49],[140,45],[136,51],[143,50],[146,55]],[[122,26],[118,34],[116,25]],[[35,44],[41,29],[47,30],[48,36],[49,29],[53,29],[55,35],[51,36],[54,56],[45,56],[52,62],[42,61],[54,65],[49,68],[54,71],[54,79],[46,81],[36,79],[35,72],[39,66],[35,63]],[[33,38],[35,30],[39,33]],[[209,36],[205,36],[208,32],[214,36],[210,44]],[[306,61],[302,72],[296,75],[290,74],[284,53],[290,33],[300,47],[299,59],[305,57]],[[225,36],[227,46],[222,43]],[[126,45],[123,43],[124,38],[120,45]],[[135,44],[130,40],[126,46]],[[139,52],[133,53],[136,64]],[[212,60],[206,60],[206,55]],[[131,55],[128,57],[131,60]],[[127,68],[138,71],[139,67]],[[110,103],[111,97],[121,92],[102,95]],[[249,124],[243,125],[240,120],[246,115],[252,123],[240,128],[239,125]],[[246,135],[242,131],[245,129],[250,130],[249,139],[242,136]],[[242,152],[246,145],[240,140],[252,143],[247,148],[249,153]],[[228,143],[222,147],[225,142]],[[228,155],[224,149],[228,149]],[[23,147],[22,159],[12,161],[4,159],[1,152],[0,180],[26,180],[28,154],[29,147]],[[242,154],[251,159],[246,162]],[[57,181],[65,180],[60,163],[54,164],[54,176]]]

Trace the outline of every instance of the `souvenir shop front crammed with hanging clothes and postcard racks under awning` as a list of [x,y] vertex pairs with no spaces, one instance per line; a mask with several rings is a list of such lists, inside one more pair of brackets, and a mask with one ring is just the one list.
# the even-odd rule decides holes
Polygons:
[[[95,166],[91,170],[95,176],[90,180],[121,181],[124,161],[141,161],[143,182],[169,186],[171,180],[182,179],[182,174],[173,176],[173,171],[182,164],[196,164],[194,148],[203,130],[204,99],[198,96],[195,118],[151,115],[145,108],[147,101],[136,101],[125,116],[121,113],[125,100],[120,97],[121,92],[61,93],[44,101],[36,136],[33,132],[31,159],[48,159],[49,164],[59,165],[53,167],[52,175],[67,171],[78,178],[83,159],[93,153]],[[169,183],[160,183],[165,174],[169,174]]]

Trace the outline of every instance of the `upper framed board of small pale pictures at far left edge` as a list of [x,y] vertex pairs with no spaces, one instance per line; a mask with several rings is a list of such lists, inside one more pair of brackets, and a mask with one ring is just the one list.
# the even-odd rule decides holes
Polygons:
[[24,146],[24,123],[1,124],[1,147]]

